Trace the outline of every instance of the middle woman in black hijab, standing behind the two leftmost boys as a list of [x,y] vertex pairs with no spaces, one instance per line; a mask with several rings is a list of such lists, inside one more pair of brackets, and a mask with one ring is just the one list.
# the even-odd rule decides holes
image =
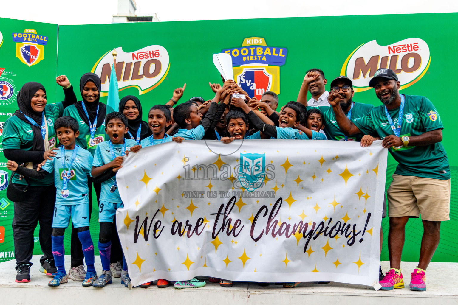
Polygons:
[[[105,134],[105,117],[107,113],[114,112],[112,107],[99,102],[101,81],[98,75],[86,73],[80,79],[80,93],[82,101],[65,109],[64,115],[76,118],[79,123],[80,135],[76,138],[76,144],[88,150],[92,155],[95,153],[97,144],[109,141],[109,136]],[[73,92],[73,88],[64,89]],[[82,123],[84,122],[84,123]],[[95,123],[95,128],[93,124]],[[91,128],[93,127],[93,128]],[[97,202],[100,198],[101,183],[93,182],[92,177],[87,176],[87,186],[89,187],[89,217],[92,211],[92,187],[94,186],[97,195]],[[72,225],[71,228],[71,269],[68,278],[74,281],[83,281],[86,276],[84,270],[81,241],[78,238],[78,231]],[[117,251],[112,251],[112,257],[116,258]],[[121,259],[122,261],[122,256]],[[121,265],[122,266],[122,265]]]

